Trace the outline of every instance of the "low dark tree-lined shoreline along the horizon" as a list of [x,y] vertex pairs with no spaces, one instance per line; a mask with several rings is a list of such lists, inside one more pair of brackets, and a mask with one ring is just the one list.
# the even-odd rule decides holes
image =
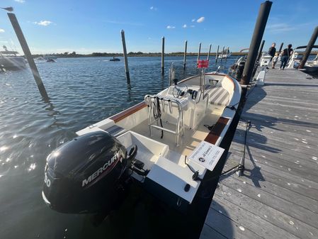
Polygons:
[[[231,55],[247,55],[248,52],[231,52]],[[220,52],[219,52],[220,54]],[[310,55],[317,55],[318,51],[312,52]],[[64,52],[64,53],[53,53],[52,56],[59,57],[59,58],[72,58],[72,57],[123,57],[123,53],[107,53],[107,52],[93,52],[91,54],[76,54],[76,52]],[[184,52],[171,52],[165,53],[165,57],[183,57]],[[211,52],[210,56],[215,57],[216,52]],[[128,57],[161,57],[161,52],[129,52],[127,54]],[[189,52],[186,54],[187,57],[191,56],[198,56],[198,52]],[[208,52],[200,53],[200,56],[208,56]],[[33,58],[42,57],[40,54],[33,55]]]

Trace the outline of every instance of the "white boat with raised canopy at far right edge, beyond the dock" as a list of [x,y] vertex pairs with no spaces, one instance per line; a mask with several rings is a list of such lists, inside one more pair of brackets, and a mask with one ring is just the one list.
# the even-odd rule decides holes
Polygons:
[[[293,69],[298,68],[302,57],[304,56],[304,49],[306,45],[297,47],[293,50],[293,54],[290,56],[290,60],[286,68]],[[313,48],[318,48],[318,45],[314,45]],[[318,71],[318,57],[315,57],[314,60],[307,60],[303,69],[300,69],[304,72],[317,72]]]

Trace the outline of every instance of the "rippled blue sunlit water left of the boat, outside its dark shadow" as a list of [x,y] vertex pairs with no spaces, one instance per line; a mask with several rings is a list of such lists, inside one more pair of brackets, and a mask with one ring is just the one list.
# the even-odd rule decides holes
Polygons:
[[[171,62],[179,79],[196,74],[195,60],[188,57],[183,72],[182,57],[166,57],[162,79],[160,57],[129,57],[130,87],[123,60],[39,62],[50,101],[41,99],[30,70],[0,73],[0,238],[80,238],[83,216],[56,213],[42,201],[47,155],[76,130],[164,89]],[[228,59],[225,69],[234,60]],[[214,62],[208,70],[215,70]]]

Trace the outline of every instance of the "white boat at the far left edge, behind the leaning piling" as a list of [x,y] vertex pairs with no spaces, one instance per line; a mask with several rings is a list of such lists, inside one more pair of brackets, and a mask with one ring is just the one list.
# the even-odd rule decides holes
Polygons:
[[18,52],[7,50],[4,45],[4,51],[0,51],[1,70],[19,70],[25,68],[24,57],[18,56]]

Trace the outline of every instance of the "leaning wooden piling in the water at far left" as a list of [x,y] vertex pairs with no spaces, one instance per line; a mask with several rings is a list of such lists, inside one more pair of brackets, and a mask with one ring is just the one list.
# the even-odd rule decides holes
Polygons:
[[24,56],[25,56],[26,60],[28,60],[30,69],[32,71],[35,82],[38,85],[38,89],[40,91],[40,94],[43,97],[43,99],[49,99],[49,96],[47,95],[47,91],[46,91],[44,84],[42,82],[42,79],[40,77],[38,67],[36,67],[36,65],[35,65],[35,62],[33,60],[31,52],[30,52],[30,48],[28,47],[28,43],[26,42],[25,37],[23,35],[23,32],[21,30],[21,27],[18,23],[18,19],[16,18],[16,15],[14,13],[7,13],[7,14],[8,14],[8,18],[11,21],[13,29],[16,32],[16,36],[17,36],[18,41],[21,45],[21,48],[24,52]]

